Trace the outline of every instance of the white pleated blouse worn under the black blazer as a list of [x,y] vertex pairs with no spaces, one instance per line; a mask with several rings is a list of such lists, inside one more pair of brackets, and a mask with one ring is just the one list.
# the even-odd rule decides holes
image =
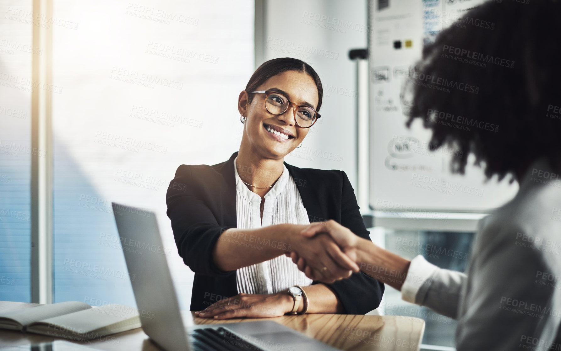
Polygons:
[[[236,212],[237,227],[252,229],[272,226],[273,224],[309,224],[308,214],[295,181],[286,166],[282,175],[265,194],[263,221],[261,221],[261,196],[255,194],[243,183],[236,167]],[[288,289],[293,285],[309,286],[312,280],[292,262],[282,255],[262,263],[254,264],[236,271],[238,293],[272,294]]]

